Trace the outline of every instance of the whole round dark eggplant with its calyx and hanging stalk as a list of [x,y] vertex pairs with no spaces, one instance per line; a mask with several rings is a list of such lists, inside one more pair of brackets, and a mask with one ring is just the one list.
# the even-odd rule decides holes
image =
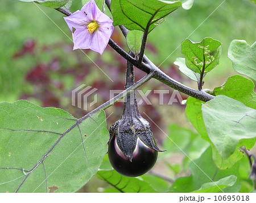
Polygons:
[[[127,61],[125,89],[133,84],[133,65]],[[127,95],[122,117],[110,127],[109,134],[109,161],[118,173],[141,176],[156,163],[161,150],[156,146],[150,123],[139,114],[134,92]]]

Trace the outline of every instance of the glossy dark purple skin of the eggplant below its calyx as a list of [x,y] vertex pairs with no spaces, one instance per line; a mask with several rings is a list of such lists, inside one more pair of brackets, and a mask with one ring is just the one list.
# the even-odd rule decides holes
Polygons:
[[109,140],[109,161],[112,167],[121,175],[136,177],[149,171],[156,163],[158,151],[146,146],[139,138],[133,152],[133,159],[123,155],[117,145],[116,137]]

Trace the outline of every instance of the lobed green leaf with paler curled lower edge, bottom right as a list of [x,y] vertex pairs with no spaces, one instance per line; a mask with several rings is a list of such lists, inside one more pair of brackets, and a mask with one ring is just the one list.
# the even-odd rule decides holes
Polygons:
[[237,163],[226,170],[218,169],[209,147],[199,159],[189,164],[191,176],[176,179],[171,192],[238,192],[238,167]]

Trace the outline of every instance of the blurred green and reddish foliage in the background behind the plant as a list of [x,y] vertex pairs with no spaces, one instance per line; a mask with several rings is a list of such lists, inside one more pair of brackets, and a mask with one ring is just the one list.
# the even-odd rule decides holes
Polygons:
[[[146,55],[175,80],[196,89],[196,82],[189,80],[172,64],[176,57],[184,57],[180,44],[186,38],[193,42],[200,42],[207,36],[220,40],[220,65],[207,74],[204,88],[213,89],[223,84],[228,76],[235,74],[227,57],[230,42],[233,39],[241,39],[251,45],[255,41],[256,6],[249,0],[222,2],[195,0],[192,9],[178,9],[172,13],[166,18],[166,22],[156,27],[149,35]],[[71,11],[80,8],[81,1],[75,0]],[[72,51],[71,33],[64,22],[63,14],[58,11],[34,3],[0,0],[0,24],[0,102],[26,99],[44,107],[60,107],[80,118],[108,101],[109,90],[124,88],[125,60],[110,47],[106,48],[102,56],[89,50],[84,50],[85,54],[80,50]],[[118,28],[115,28],[112,38],[127,51],[125,40]],[[113,82],[94,63],[106,72]],[[136,69],[135,76],[138,80],[144,73]],[[71,105],[71,91],[81,84],[98,89],[98,102],[88,111]],[[179,102],[167,105],[173,90],[155,80],[149,81],[141,89],[144,93],[150,89],[170,91],[170,94],[164,95],[164,105],[159,105],[159,94],[151,91],[148,98],[152,105],[142,102],[142,105],[139,105],[141,114],[146,113],[192,159],[199,158],[208,143],[201,139],[188,123],[184,105]],[[138,94],[137,96],[139,101],[140,97]],[[181,96],[183,99],[187,98],[184,94]],[[93,97],[90,99],[93,100]],[[106,110],[107,116],[114,112],[108,119],[108,128],[121,116],[122,108],[123,103],[118,102]],[[158,143],[163,145],[163,150],[168,150],[160,154],[153,171],[170,179],[189,175],[187,169],[190,160],[159,127],[150,123]],[[244,164],[241,170],[247,170],[248,173],[249,164],[247,167]],[[96,179],[94,177],[81,192],[101,192],[105,185],[101,181],[95,181]],[[150,180],[150,176],[143,176],[143,179]],[[246,187],[251,188],[246,175],[242,179],[242,189],[246,191]],[[163,184],[161,181],[162,179],[159,180],[158,186],[160,185],[162,190],[164,187],[168,188],[172,182],[167,180]],[[156,185],[157,183],[158,181],[155,182]],[[109,189],[109,192],[113,190]]]

